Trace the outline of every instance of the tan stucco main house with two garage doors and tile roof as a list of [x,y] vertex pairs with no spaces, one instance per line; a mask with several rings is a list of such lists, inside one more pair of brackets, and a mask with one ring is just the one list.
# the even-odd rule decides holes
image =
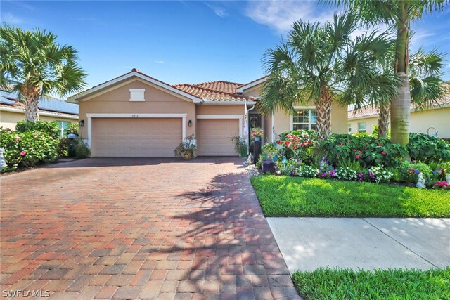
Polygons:
[[[199,156],[237,155],[231,136],[243,136],[244,105],[249,125],[273,141],[282,131],[315,128],[314,105],[264,117],[255,104],[266,77],[237,84],[212,81],[169,85],[136,69],[68,100],[79,103],[80,133],[95,156],[173,157],[186,136],[195,134]],[[333,105],[333,132],[347,131],[347,107]]]

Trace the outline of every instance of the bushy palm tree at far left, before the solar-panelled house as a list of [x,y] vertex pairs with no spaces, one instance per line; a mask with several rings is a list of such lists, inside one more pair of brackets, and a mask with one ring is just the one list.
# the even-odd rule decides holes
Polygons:
[[18,92],[27,121],[37,121],[41,96],[56,93],[63,97],[86,85],[86,72],[76,61],[77,51],[60,46],[56,39],[46,30],[0,27],[0,86]]

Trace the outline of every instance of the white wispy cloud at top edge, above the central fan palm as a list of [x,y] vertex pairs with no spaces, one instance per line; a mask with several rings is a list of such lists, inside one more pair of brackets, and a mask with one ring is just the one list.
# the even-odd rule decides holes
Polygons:
[[333,8],[321,8],[317,1],[249,1],[245,15],[267,25],[277,32],[290,30],[293,22],[309,20],[326,22],[333,20]]

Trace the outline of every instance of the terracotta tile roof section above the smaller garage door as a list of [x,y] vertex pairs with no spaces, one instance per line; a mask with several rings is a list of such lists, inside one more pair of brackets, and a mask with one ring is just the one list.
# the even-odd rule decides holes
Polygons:
[[[217,81],[214,81],[217,82]],[[210,84],[210,83],[207,83]],[[200,84],[203,85],[203,84]],[[217,84],[219,86],[219,84]],[[253,97],[244,97],[236,93],[228,93],[225,91],[219,91],[214,89],[207,89],[205,87],[199,86],[198,84],[175,84],[174,88],[189,93],[192,96],[201,99],[208,99],[213,101],[243,101],[243,100],[255,100]],[[222,86],[223,88],[223,86]]]

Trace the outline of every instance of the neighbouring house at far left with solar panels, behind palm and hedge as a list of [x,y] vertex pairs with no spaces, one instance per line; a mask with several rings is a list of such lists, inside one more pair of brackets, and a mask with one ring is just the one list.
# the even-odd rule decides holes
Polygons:
[[[78,122],[78,105],[56,98],[40,98],[38,103],[39,119],[41,121],[56,121],[64,135],[65,126]],[[0,91],[0,126],[15,129],[19,121],[25,120],[25,107],[18,100],[17,93]]]

